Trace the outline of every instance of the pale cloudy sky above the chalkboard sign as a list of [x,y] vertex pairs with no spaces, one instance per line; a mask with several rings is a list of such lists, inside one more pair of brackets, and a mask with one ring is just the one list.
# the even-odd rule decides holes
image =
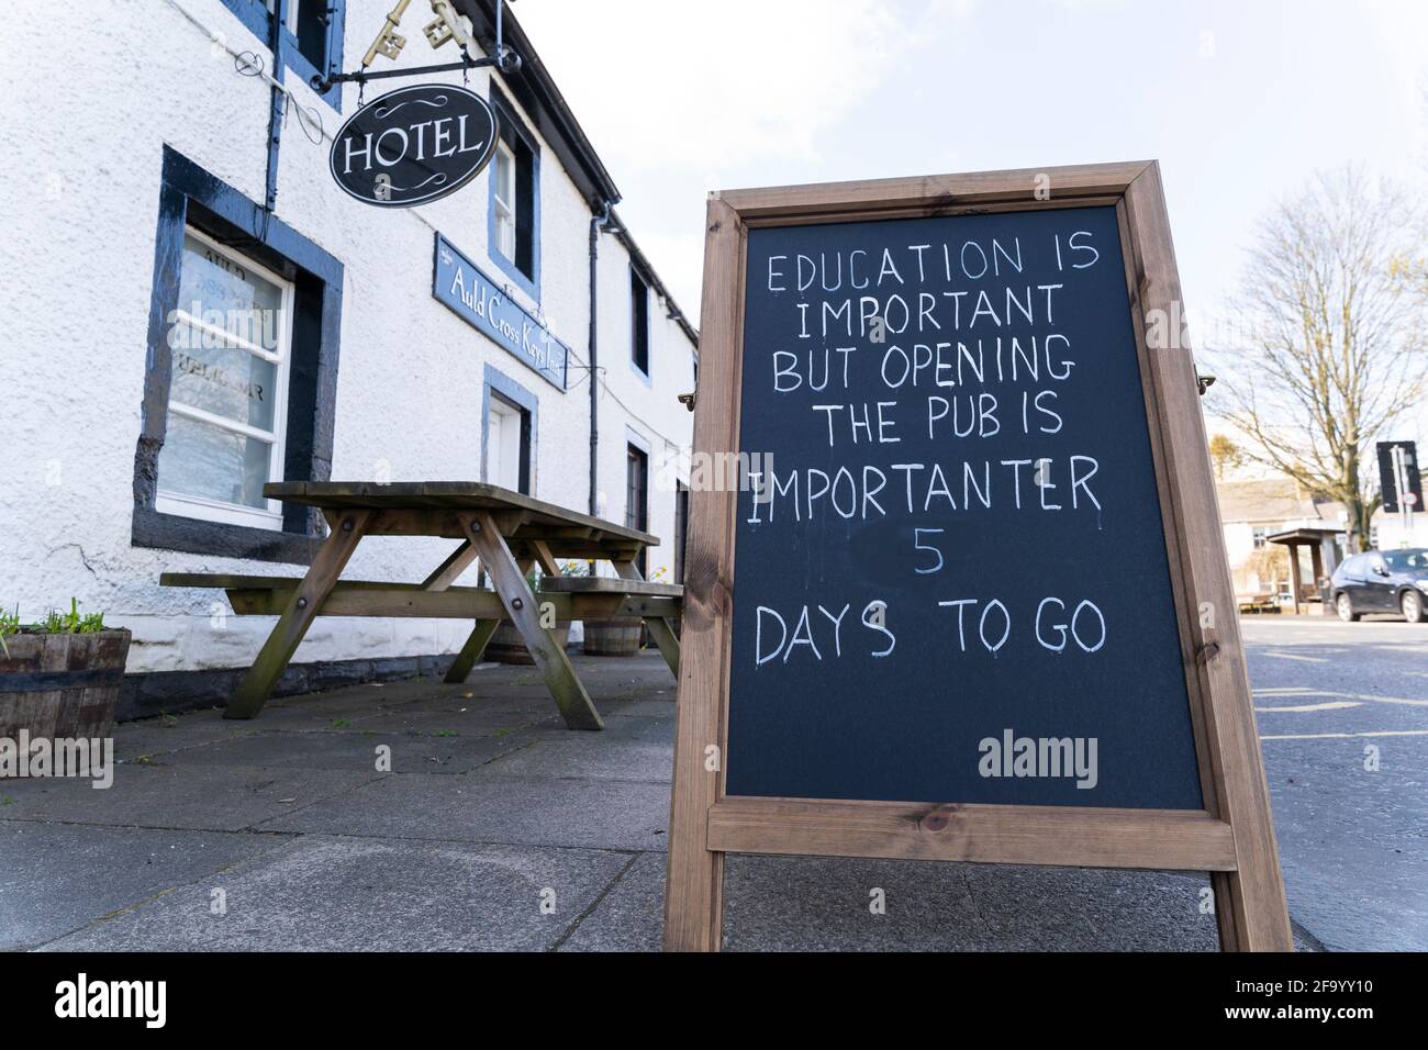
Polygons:
[[1185,301],[1315,167],[1428,176],[1428,3],[518,0],[697,316],[714,189],[1158,159]]

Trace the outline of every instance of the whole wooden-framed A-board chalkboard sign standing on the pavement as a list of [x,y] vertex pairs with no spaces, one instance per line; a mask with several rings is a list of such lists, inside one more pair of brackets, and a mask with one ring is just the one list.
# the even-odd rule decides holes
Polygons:
[[727,851],[1204,870],[1289,947],[1182,313],[1154,163],[710,199],[667,947]]

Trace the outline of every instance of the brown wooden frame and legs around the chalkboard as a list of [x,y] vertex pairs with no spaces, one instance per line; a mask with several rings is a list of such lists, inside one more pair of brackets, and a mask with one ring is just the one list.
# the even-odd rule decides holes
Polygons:
[[[738,451],[751,227],[1107,204],[1117,211],[1125,261],[1204,810],[725,794],[718,759],[727,753],[738,500],[735,491],[695,489],[665,950],[720,949],[725,853],[1208,871],[1224,950],[1292,950],[1195,367],[1188,347],[1147,349],[1147,316],[1180,317],[1181,299],[1155,161],[711,194],[694,449]],[[1202,626],[1207,609],[1218,610],[1212,627]]]

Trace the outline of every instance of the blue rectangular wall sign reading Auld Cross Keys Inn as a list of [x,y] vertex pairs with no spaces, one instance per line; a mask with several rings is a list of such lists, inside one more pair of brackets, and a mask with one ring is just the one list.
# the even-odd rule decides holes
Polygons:
[[565,389],[570,349],[440,233],[436,236],[431,294],[473,329],[538,371],[545,381]]

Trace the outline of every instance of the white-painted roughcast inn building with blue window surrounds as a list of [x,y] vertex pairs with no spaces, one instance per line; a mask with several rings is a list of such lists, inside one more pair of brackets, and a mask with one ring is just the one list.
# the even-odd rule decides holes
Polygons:
[[[73,596],[130,627],[140,679],[124,713],[221,691],[223,674],[188,673],[251,663],[270,619],[228,616],[221,594],[163,589],[159,574],[301,571],[318,526],[263,500],[268,480],[527,489],[648,529],[664,541],[650,573],[678,579],[680,497],[660,481],[691,439],[677,399],[694,390],[695,331],[608,211],[618,190],[510,11],[518,71],[366,87],[370,101],[466,83],[491,100],[503,144],[486,171],[413,209],[364,206],[330,179],[331,137],[358,87],[318,94],[310,81],[357,69],[391,7],[101,3],[86,6],[94,31],[63,70],[41,49],[11,56],[0,604],[29,620]],[[456,9],[490,51],[493,3]],[[53,33],[40,0],[7,17],[16,39]],[[431,19],[413,0],[400,59],[371,69],[457,60],[456,44],[423,37]],[[563,384],[434,297],[438,236],[568,349]],[[278,307],[278,321],[204,346],[201,314],[224,306]],[[450,546],[370,541],[347,574],[421,579]],[[468,627],[320,619],[294,664],[314,686],[411,673]]]

